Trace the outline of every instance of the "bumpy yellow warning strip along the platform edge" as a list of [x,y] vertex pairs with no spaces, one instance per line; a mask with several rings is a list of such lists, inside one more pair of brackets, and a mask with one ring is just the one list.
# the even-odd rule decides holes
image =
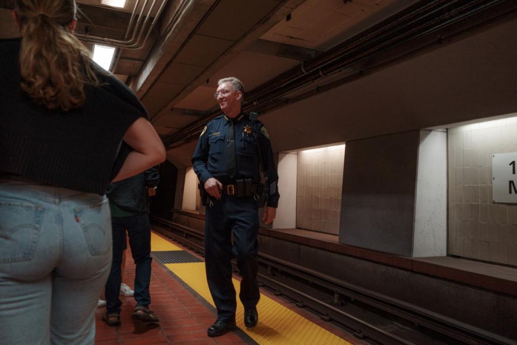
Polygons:
[[[187,283],[195,292],[205,298],[206,301],[214,305],[206,282],[204,262],[165,264],[165,266]],[[239,281],[233,279],[233,284],[238,296]],[[254,328],[246,328],[243,320],[244,307],[238,302],[236,321],[237,326],[243,332],[261,345],[351,344],[264,294],[261,294],[257,309],[259,313],[258,325]]]

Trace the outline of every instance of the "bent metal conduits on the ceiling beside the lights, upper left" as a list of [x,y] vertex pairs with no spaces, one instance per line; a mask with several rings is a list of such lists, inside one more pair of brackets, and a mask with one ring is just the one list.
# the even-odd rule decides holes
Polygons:
[[[187,1],[187,0],[185,0],[185,1]],[[136,1],[135,6],[133,8],[133,12],[131,13],[131,18],[129,20],[128,28],[126,29],[126,34],[124,35],[124,40],[115,40],[115,39],[111,39],[111,38],[89,36],[89,35],[85,35],[85,34],[75,34],[75,36],[79,37],[79,39],[81,39],[83,41],[109,44],[110,46],[117,47],[117,48],[132,49],[132,50],[141,49],[145,45],[147,39],[149,38],[150,33],[153,31],[153,28],[155,27],[155,25],[158,21],[158,18],[160,17],[161,12],[165,8],[167,0],[161,1],[161,5],[158,8],[158,12],[157,12],[156,16],[153,18],[153,21],[151,22],[151,25],[149,26],[147,33],[145,34],[145,38],[142,40],[142,36],[144,34],[145,28],[151,19],[151,12],[153,12],[156,5],[158,4],[158,0],[153,0],[153,3],[150,6],[147,6],[147,3],[148,3],[148,0],[144,0],[144,4],[142,6],[141,13],[139,15],[138,20],[136,21],[136,24],[133,28],[133,34],[129,40],[127,40],[127,36],[129,35],[129,32],[131,31],[131,25],[133,24],[134,17],[136,16],[136,12],[138,12],[140,0]],[[147,14],[144,16],[143,13],[146,9],[147,9]],[[145,20],[143,20],[143,23],[142,23],[142,19],[144,17],[145,17]]]

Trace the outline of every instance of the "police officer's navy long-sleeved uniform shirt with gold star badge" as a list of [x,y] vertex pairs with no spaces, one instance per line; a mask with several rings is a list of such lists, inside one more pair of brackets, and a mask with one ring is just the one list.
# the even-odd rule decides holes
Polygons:
[[[235,140],[234,178],[230,178],[226,172],[227,133],[231,128],[230,122],[233,122]],[[210,177],[215,177],[222,184],[231,184],[235,179],[241,178],[252,178],[253,183],[260,183],[259,155],[254,136],[258,139],[261,148],[263,169],[270,186],[267,205],[278,207],[280,198],[277,188],[278,173],[271,142],[266,127],[260,121],[254,121],[252,124],[248,115],[240,114],[234,119],[221,115],[210,121],[197,142],[192,156],[192,166],[202,185]]]

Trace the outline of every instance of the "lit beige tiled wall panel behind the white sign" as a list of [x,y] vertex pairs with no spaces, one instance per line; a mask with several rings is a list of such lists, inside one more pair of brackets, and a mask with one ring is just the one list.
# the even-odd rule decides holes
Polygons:
[[448,129],[448,254],[517,266],[517,204],[492,202],[492,154],[517,152],[517,117]]

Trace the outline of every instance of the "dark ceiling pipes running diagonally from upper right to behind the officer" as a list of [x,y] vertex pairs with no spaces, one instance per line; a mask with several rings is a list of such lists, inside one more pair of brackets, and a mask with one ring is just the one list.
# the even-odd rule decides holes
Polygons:
[[[454,1],[453,3],[459,3],[459,2],[460,1],[458,0],[458,1]],[[318,79],[324,78],[323,76],[330,76],[333,73],[340,72],[341,70],[343,70],[351,65],[357,64],[368,58],[371,58],[378,54],[386,52],[394,47],[399,46],[402,43],[412,41],[412,40],[420,38],[424,35],[428,35],[440,28],[443,28],[447,25],[458,22],[474,13],[482,11],[483,9],[486,9],[486,8],[496,5],[498,3],[504,3],[504,2],[508,2],[508,0],[461,1],[461,3],[463,3],[462,6],[459,6],[457,8],[445,11],[444,13],[438,14],[432,20],[421,23],[420,26],[414,27],[410,30],[407,30],[404,27],[400,27],[398,29],[398,32],[399,33],[401,32],[401,33],[399,35],[395,35],[394,37],[392,37],[389,40],[389,43],[391,45],[389,45],[388,43],[382,44],[378,49],[376,49],[377,46],[375,44],[370,44],[370,42],[364,41],[362,38],[359,38],[359,40],[361,40],[361,42],[364,43],[363,44],[364,51],[362,53],[360,53],[358,55],[354,55],[354,52],[357,50],[360,50],[360,49],[359,48],[352,49],[352,52],[343,54],[344,56],[342,55],[341,59],[334,59],[333,60],[334,64],[327,66],[327,68],[319,68],[319,69],[313,71],[312,73],[305,74],[306,77],[301,80],[298,80],[299,78],[294,78],[291,81],[286,81],[284,79],[284,74],[286,74],[286,73],[283,73],[280,77],[277,77],[275,80],[273,80],[272,83],[266,83],[266,84],[256,88],[256,89],[269,88],[270,92],[265,94],[264,97],[261,97],[261,98],[257,97],[255,99],[252,98],[253,99],[252,101],[248,101],[247,103],[244,104],[244,106],[242,107],[242,110],[248,111],[253,108],[256,108],[259,104],[264,104],[266,102],[275,101],[282,95],[292,93],[292,92],[296,91],[297,89],[307,86],[310,83],[313,83],[314,81],[316,81]],[[444,2],[441,2],[441,3],[444,3]],[[451,4],[451,2],[448,3],[448,5],[450,5],[450,4]],[[427,5],[424,7],[427,7]],[[429,8],[429,7],[427,7],[427,8]],[[440,8],[443,10],[444,8],[446,8],[446,6],[440,7]],[[417,9],[416,12],[421,13],[420,9],[421,8]],[[436,10],[434,10],[433,13],[437,14]],[[409,16],[409,14],[407,14],[407,15],[403,15],[401,18],[409,18],[409,17],[411,17],[411,16]],[[383,23],[381,23],[379,25],[383,25]],[[388,26],[392,26],[392,25],[388,25]],[[406,26],[406,25],[404,25],[404,26]],[[381,32],[381,30],[375,30],[374,32]],[[413,34],[413,36],[410,36],[410,34]],[[367,36],[371,37],[370,34]],[[375,39],[375,41],[376,41],[376,39]],[[345,43],[347,43],[347,42],[345,42]],[[329,53],[334,53],[334,51],[340,49],[341,46],[343,46],[343,44],[340,44],[340,46],[336,47],[337,49],[331,49],[331,51],[329,51]],[[352,44],[352,46],[356,47],[357,45]],[[322,55],[327,55],[327,53],[324,53]],[[343,57],[344,57],[344,59],[343,59]],[[320,56],[320,58],[321,58],[321,56]],[[296,68],[296,69],[298,69],[298,68]],[[288,71],[287,73],[289,73],[291,71],[292,70]],[[297,81],[297,82],[295,82],[295,81]],[[255,90],[253,90],[250,94],[255,94]],[[203,126],[208,121],[210,121],[210,119],[216,117],[220,113],[221,113],[220,110],[215,110],[209,116],[207,116],[203,119],[200,119],[200,121],[196,121],[195,123],[192,123],[192,124],[184,127],[182,130],[166,137],[163,140],[165,147],[172,148],[172,147],[180,146],[183,143],[190,141],[192,138],[195,138],[194,136],[196,136],[197,133],[199,133],[199,131],[203,128]]]

